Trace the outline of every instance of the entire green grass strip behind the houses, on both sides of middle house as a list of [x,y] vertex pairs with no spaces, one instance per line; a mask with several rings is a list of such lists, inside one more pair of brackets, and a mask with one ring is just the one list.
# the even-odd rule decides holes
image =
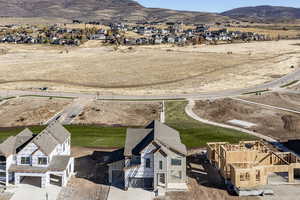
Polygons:
[[[255,139],[245,133],[202,124],[189,118],[184,108],[185,101],[166,103],[167,124],[181,133],[182,141],[188,148],[204,147],[207,142],[227,141],[236,143],[240,140]],[[72,134],[72,145],[83,147],[123,147],[126,127],[101,127],[96,125],[65,126]],[[44,126],[33,126],[30,129],[39,133]],[[0,128],[0,142],[11,135],[16,135],[23,128]]]

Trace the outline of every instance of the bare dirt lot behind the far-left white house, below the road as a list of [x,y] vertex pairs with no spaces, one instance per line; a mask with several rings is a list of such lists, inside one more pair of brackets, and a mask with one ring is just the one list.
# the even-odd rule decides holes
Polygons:
[[71,99],[19,97],[0,103],[0,127],[39,125],[50,119]]

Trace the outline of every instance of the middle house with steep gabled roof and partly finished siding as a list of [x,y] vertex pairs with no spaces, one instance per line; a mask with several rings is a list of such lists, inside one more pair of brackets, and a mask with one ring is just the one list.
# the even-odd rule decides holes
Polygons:
[[187,190],[186,155],[179,133],[152,121],[127,129],[123,156],[109,164],[109,182],[153,191]]

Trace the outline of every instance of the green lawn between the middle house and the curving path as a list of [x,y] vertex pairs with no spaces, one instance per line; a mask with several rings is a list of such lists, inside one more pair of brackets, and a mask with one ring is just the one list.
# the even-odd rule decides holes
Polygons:
[[188,148],[203,147],[207,142],[237,143],[253,140],[255,137],[235,130],[206,125],[191,119],[184,108],[187,102],[166,103],[166,123],[181,133],[181,139]]

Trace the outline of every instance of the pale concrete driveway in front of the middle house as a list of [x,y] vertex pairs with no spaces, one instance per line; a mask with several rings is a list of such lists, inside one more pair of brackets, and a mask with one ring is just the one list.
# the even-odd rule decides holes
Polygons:
[[111,187],[107,200],[153,200],[154,192],[143,189],[130,188],[127,191],[116,187]]

